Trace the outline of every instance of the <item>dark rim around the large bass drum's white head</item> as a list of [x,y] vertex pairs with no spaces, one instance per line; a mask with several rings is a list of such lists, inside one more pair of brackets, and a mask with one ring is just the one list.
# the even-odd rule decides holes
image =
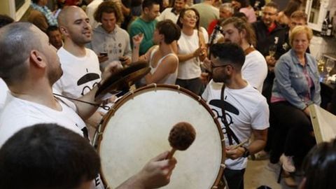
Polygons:
[[[193,97],[193,99],[197,100],[197,102],[199,102],[200,104],[202,104],[202,106],[207,109],[207,111],[210,113],[210,115],[212,116],[214,123],[217,126],[217,130],[218,133],[220,135],[221,138],[221,146],[222,146],[222,158],[221,158],[221,165],[220,165],[220,169],[219,172],[217,174],[216,180],[213,183],[213,185],[211,186],[211,188],[217,188],[217,186],[219,186],[219,183],[221,182],[222,176],[224,174],[224,168],[225,168],[225,141],[224,141],[224,134],[223,131],[221,129],[221,125],[218,122],[217,117],[215,116],[214,112],[210,109],[210,107],[208,106],[207,102],[204,101],[204,99],[202,99],[202,97],[198,96],[197,94],[191,92],[190,90],[187,90],[179,85],[169,85],[169,84],[156,84],[153,83],[151,85],[146,85],[144,87],[139,87],[138,89],[134,90],[134,91],[130,91],[127,92],[127,94],[125,94],[121,99],[118,100],[118,102],[116,102],[116,104],[114,104],[110,111],[108,113],[106,113],[106,115],[103,118],[103,122],[102,122],[102,128],[99,129],[99,136],[97,138],[97,153],[100,154],[100,144],[102,141],[102,134],[104,133],[105,127],[107,125],[107,123],[109,123],[109,119],[114,115],[114,113],[116,113],[116,111],[118,111],[118,109],[123,106],[123,104],[125,104],[125,102],[127,102],[129,99],[132,99],[134,97],[134,95],[137,95],[137,93],[139,92],[144,92],[146,90],[150,90],[155,88],[155,90],[179,90],[179,92],[183,92],[184,94],[187,94],[189,97]],[[104,186],[108,187],[108,183],[105,179],[105,176],[103,174],[103,170],[102,170],[102,165],[100,168],[100,176],[101,179],[104,183]],[[128,178],[125,178],[128,179]]]

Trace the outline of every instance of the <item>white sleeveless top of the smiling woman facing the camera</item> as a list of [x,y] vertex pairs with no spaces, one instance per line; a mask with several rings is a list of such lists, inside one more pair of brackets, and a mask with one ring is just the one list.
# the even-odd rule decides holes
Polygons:
[[[179,54],[185,55],[195,52],[200,47],[198,32],[195,29],[193,35],[187,36],[181,32],[181,37],[177,42],[179,45]],[[179,71],[177,78],[179,79],[193,79],[199,78],[201,75],[200,59],[193,57],[185,62],[179,62]]]

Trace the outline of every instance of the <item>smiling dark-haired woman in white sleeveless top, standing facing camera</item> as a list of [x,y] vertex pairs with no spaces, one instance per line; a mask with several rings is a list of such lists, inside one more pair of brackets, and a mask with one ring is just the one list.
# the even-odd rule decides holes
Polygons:
[[177,42],[180,63],[176,85],[200,94],[200,64],[207,57],[204,34],[199,29],[200,14],[195,8],[186,8],[181,11],[177,25],[182,32]]

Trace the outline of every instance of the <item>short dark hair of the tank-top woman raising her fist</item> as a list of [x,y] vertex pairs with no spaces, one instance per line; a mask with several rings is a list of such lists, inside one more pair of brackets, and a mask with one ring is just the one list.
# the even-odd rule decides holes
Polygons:
[[181,29],[178,25],[174,24],[172,20],[162,20],[156,24],[159,34],[165,36],[165,43],[170,44],[175,40],[179,40],[181,36]]

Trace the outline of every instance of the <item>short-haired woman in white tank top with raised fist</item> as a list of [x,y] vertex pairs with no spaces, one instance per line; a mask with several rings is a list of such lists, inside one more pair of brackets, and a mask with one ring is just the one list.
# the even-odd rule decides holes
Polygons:
[[139,46],[144,35],[138,34],[132,38],[133,62],[145,60],[151,66],[151,72],[145,76],[147,85],[151,83],[175,84],[179,58],[175,55],[171,44],[180,36],[181,30],[172,20],[158,22],[153,35],[153,42],[157,45],[154,45],[141,57],[139,57]]

